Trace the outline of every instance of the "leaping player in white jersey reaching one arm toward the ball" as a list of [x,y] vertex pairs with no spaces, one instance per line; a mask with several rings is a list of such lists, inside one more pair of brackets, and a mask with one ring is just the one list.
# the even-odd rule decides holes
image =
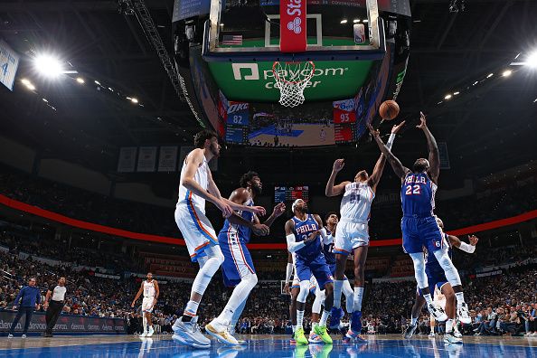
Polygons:
[[[391,136],[388,146],[391,147],[395,135],[404,125],[404,121],[398,126],[391,128]],[[371,212],[372,200],[375,196],[377,184],[381,180],[382,171],[386,164],[386,157],[381,155],[369,176],[365,170],[361,170],[354,176],[353,182],[343,182],[335,185],[335,176],[343,169],[344,159],[337,159],[334,162],[332,174],[326,184],[326,196],[336,196],[343,194],[340,206],[341,219],[335,231],[334,250],[335,253],[335,280],[334,280],[334,307],[332,308],[332,319],[330,328],[335,329],[340,325],[344,311],[341,308],[341,294],[344,286],[344,269],[347,256],[353,254],[354,257],[354,302],[351,327],[345,335],[345,340],[359,338],[362,330],[362,297],[365,283],[364,266],[369,247],[368,221]]]

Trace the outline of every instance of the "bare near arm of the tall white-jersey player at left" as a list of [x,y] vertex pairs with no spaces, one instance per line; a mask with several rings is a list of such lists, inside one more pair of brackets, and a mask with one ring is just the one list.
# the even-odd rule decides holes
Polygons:
[[194,179],[194,175],[196,174],[198,167],[203,163],[203,149],[194,149],[192,152],[190,152],[185,160],[186,168],[181,184],[183,184],[186,189],[192,191],[196,195],[201,196],[203,199],[215,204],[218,209],[221,210],[224,217],[230,216],[232,212],[231,207],[228,203],[224,203],[221,200],[220,191],[216,187],[216,184],[214,184],[212,181],[211,172],[209,172],[208,175],[208,191],[205,191],[202,185],[198,184]]

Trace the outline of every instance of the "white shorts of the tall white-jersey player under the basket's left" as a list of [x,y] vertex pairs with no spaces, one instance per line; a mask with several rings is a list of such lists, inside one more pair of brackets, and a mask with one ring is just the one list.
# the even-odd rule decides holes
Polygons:
[[186,249],[193,262],[206,255],[204,251],[209,245],[218,245],[211,221],[192,202],[185,201],[175,205],[175,222],[183,234]]

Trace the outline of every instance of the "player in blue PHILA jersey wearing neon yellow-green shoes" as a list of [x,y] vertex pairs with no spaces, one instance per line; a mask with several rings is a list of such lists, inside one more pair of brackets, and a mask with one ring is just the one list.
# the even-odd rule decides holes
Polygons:
[[319,325],[315,327],[315,333],[321,337],[325,344],[332,344],[332,338],[326,332],[326,321],[330,316],[330,309],[334,302],[334,278],[326,264],[321,241],[326,240],[326,230],[323,228],[323,221],[319,215],[308,213],[307,204],[302,199],[297,199],[293,203],[292,210],[295,216],[286,222],[286,239],[287,250],[295,253],[295,268],[300,280],[295,340],[297,344],[308,343],[304,336],[302,322],[310,287],[310,277],[313,274],[319,287],[323,287],[326,293],[326,306]]

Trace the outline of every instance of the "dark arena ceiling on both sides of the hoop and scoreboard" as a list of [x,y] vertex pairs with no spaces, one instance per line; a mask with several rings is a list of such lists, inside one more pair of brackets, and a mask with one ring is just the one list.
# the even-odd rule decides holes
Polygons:
[[[398,98],[402,117],[416,121],[420,109],[429,114],[433,133],[448,142],[451,166],[457,169],[451,172],[454,180],[536,159],[537,71],[515,68],[519,71],[509,78],[500,74],[518,53],[537,50],[537,2],[466,0],[466,11],[458,13],[449,12],[449,3],[411,1],[410,63]],[[173,0],[146,0],[146,5],[171,54]],[[2,87],[0,128],[42,156],[112,174],[119,146],[190,144],[200,128],[136,17],[119,14],[117,1],[4,0],[0,38],[25,54],[19,79],[32,78],[39,94],[19,82],[14,92]],[[39,79],[27,56],[31,51],[61,55],[86,83]],[[495,75],[486,79],[489,73]],[[454,99],[444,100],[459,90]],[[126,96],[136,97],[144,107]],[[417,147],[426,150],[424,138],[411,127],[394,147],[406,163],[415,158]],[[389,128],[382,125],[384,132]],[[320,150],[235,147],[222,158],[226,171],[219,175],[234,181],[245,165],[253,165],[275,174],[292,168],[303,177],[297,180],[306,180],[318,173],[320,161],[322,171],[329,170],[334,152],[372,166],[378,149],[367,141],[358,148]]]

